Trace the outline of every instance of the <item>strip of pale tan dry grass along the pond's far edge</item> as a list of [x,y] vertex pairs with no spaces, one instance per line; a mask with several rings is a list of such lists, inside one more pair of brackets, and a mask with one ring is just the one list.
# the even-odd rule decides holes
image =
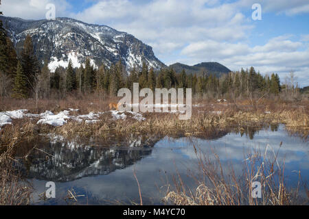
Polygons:
[[[299,110],[300,111],[300,110]],[[222,114],[196,112],[190,120],[179,120],[176,114],[152,113],[144,114],[146,120],[134,119],[112,120],[110,114],[104,114],[100,122],[95,124],[78,124],[74,121],[62,127],[56,127],[56,133],[65,137],[95,137],[109,138],[110,136],[127,136],[131,133],[154,133],[159,136],[199,136],[209,129],[227,129],[228,127],[261,126],[264,124],[285,123],[294,132],[301,132],[304,138],[308,136],[309,120],[306,112],[276,112],[273,114],[256,112],[236,112],[227,110]]]

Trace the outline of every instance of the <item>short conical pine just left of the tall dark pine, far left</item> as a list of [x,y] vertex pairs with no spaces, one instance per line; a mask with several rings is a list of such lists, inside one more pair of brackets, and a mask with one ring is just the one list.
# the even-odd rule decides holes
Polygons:
[[15,99],[26,99],[27,98],[27,81],[25,74],[23,73],[23,67],[21,63],[18,62],[16,75],[14,79],[14,88],[12,97]]

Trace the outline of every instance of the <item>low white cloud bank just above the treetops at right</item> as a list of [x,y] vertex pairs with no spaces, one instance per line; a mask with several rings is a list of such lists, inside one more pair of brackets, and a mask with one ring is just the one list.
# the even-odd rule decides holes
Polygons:
[[186,64],[218,61],[231,70],[254,66],[261,73],[278,73],[282,81],[284,76],[295,71],[300,86],[309,83],[309,47],[301,42],[288,40],[289,36],[272,38],[262,46],[249,47],[242,43],[216,42],[205,40],[187,45],[181,55],[190,59],[178,60]]

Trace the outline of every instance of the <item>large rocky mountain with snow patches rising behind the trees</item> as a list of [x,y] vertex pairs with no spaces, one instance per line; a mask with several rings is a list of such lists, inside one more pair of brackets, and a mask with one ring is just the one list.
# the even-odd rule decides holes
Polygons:
[[152,47],[105,25],[91,25],[71,18],[30,21],[0,16],[0,19],[17,52],[30,34],[38,60],[49,60],[51,70],[66,67],[70,59],[73,67],[79,67],[87,57],[96,66],[102,63],[110,66],[121,60],[127,70],[133,66],[139,68],[143,62],[155,70],[165,66],[155,57]]

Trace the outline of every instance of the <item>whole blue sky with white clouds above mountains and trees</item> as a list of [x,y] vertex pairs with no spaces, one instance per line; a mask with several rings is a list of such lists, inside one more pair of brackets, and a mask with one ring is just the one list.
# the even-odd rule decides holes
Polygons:
[[[5,16],[45,18],[47,3],[56,16],[108,25],[152,46],[165,64],[216,61],[231,70],[254,66],[262,74],[291,70],[309,85],[308,0],[2,0]],[[254,3],[262,21],[253,21]]]

